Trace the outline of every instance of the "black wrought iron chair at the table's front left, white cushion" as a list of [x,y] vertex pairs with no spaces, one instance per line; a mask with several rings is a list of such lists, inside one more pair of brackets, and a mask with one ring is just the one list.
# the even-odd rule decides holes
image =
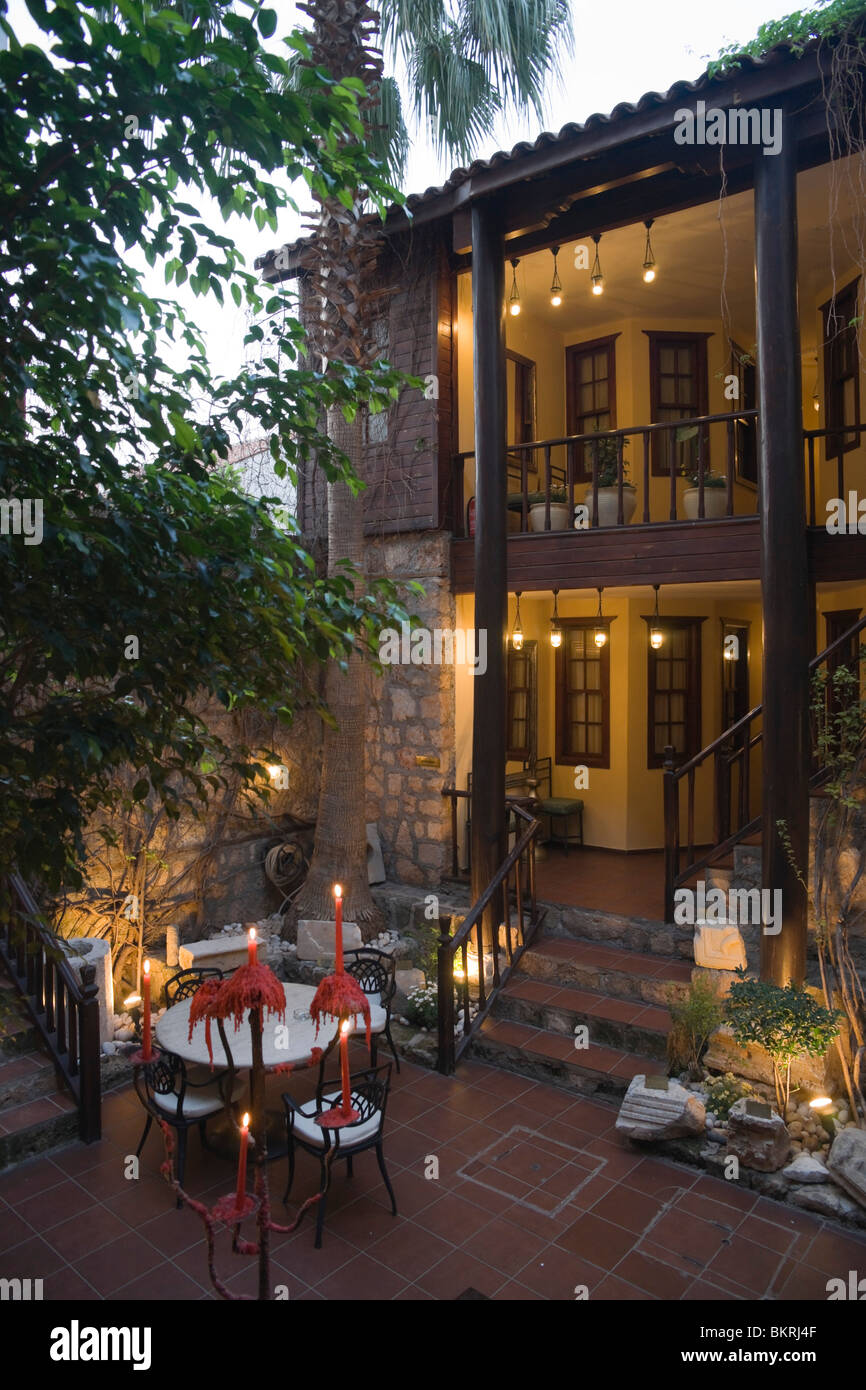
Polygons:
[[[197,1126],[202,1147],[209,1148],[207,1120],[218,1115],[220,1111],[234,1111],[235,1104],[245,1091],[245,1083],[235,1072],[225,1030],[220,1019],[217,1020],[217,1026],[229,1063],[227,1070],[218,1076],[209,1074],[207,1080],[202,1081],[190,1079],[192,1068],[188,1068],[183,1058],[175,1052],[160,1052],[153,1062],[143,1062],[135,1068],[135,1090],[147,1112],[145,1130],[135,1156],[140,1158],[153,1122],[158,1120],[161,1123],[165,1120],[178,1136],[177,1177],[181,1187],[183,1186],[186,1136],[189,1130]],[[178,1197],[178,1207],[182,1205]]]

